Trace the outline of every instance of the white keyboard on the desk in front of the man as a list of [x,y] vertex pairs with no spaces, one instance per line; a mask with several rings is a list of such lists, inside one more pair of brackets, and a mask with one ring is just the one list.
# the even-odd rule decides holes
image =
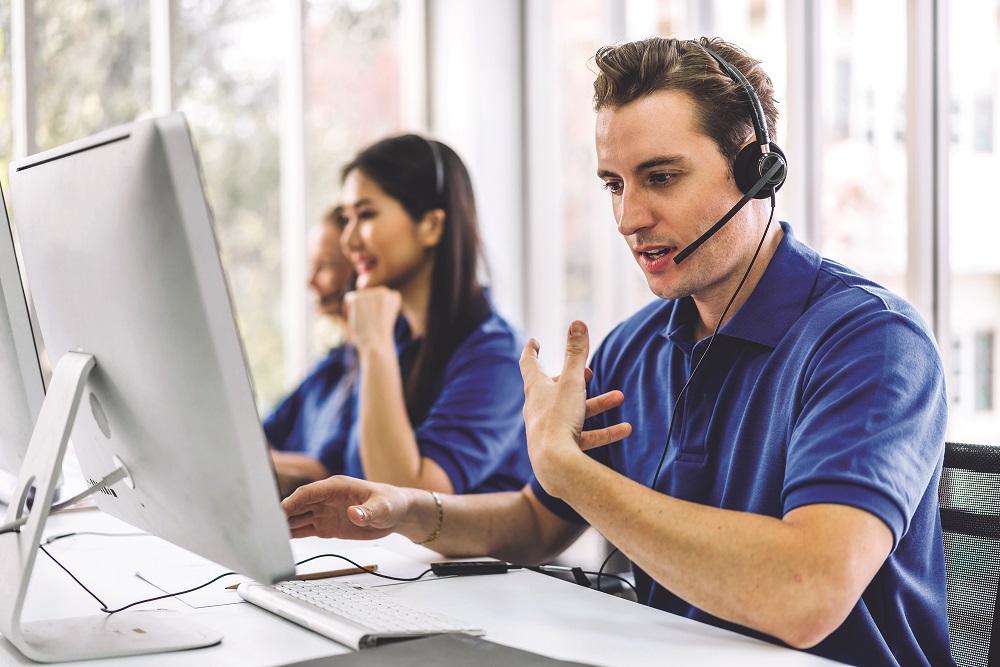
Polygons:
[[485,634],[409,607],[376,588],[346,581],[286,581],[274,586],[248,581],[236,592],[247,602],[355,649],[429,635]]

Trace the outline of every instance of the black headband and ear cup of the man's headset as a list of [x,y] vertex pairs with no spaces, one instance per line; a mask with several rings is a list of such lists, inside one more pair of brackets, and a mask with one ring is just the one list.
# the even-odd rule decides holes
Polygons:
[[[729,78],[743,88],[750,100],[750,121],[753,123],[753,132],[757,140],[744,146],[743,150],[736,156],[736,160],[733,161],[733,176],[736,178],[736,186],[743,193],[750,192],[758,181],[764,180],[762,187],[752,196],[754,199],[767,199],[777,192],[785,182],[785,175],[788,173],[788,161],[785,159],[785,154],[776,144],[771,142],[767,134],[767,119],[764,117],[760,98],[757,97],[753,86],[743,76],[743,73],[712,49],[705,46],[702,48],[719,63]],[[777,171],[765,179],[764,177],[776,164],[779,165]]]

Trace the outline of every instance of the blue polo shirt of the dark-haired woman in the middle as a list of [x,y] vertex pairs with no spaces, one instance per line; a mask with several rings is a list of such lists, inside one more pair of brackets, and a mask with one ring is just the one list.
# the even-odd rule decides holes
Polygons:
[[[410,371],[416,344],[405,318],[396,326],[400,371]],[[427,416],[413,425],[420,455],[441,466],[455,493],[513,491],[531,478],[524,431],[524,383],[518,360],[522,336],[493,309],[445,364]],[[360,382],[355,383],[352,414],[358,415]],[[361,427],[349,427],[343,472],[364,477]]]

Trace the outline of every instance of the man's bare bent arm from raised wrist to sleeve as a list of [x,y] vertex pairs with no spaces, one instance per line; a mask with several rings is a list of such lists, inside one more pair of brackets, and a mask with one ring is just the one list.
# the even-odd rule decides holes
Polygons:
[[892,546],[885,524],[846,506],[778,519],[677,500],[589,457],[571,467],[586,484],[563,485],[563,500],[656,582],[792,645],[835,629]]

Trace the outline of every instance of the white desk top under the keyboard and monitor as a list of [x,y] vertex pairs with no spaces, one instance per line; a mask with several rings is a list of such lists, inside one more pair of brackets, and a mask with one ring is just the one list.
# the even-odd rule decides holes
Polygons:
[[[52,517],[47,535],[75,531],[135,532],[97,510]],[[419,563],[441,556],[408,540],[392,536],[372,542],[310,539],[296,541],[302,553],[337,552],[371,554],[384,549],[393,558],[380,563],[380,571],[424,569]],[[157,538],[78,536],[53,543],[50,551],[109,606],[160,594],[152,585],[133,576],[164,559],[189,557]],[[412,559],[412,560],[410,560]],[[390,563],[393,568],[390,568]],[[341,567],[325,559],[318,569]],[[403,573],[407,576],[409,573]],[[207,581],[197,578],[190,584]],[[387,580],[360,575],[365,583]],[[224,588],[231,581],[214,584]],[[749,637],[720,630],[673,614],[605,595],[543,574],[513,571],[504,575],[428,579],[391,584],[384,588],[413,604],[463,618],[487,631],[486,639],[535,653],[595,665],[784,665],[835,664],[799,651],[784,649]],[[233,593],[235,595],[235,593]],[[247,603],[192,608],[175,599],[148,605],[177,609],[225,635],[222,643],[195,651],[145,655],[103,661],[63,663],[73,665],[282,665],[298,660],[345,653],[345,647]],[[24,620],[60,618],[99,613],[94,600],[44,554],[39,554],[32,578]],[[0,639],[0,666],[36,664],[24,658],[7,640]]]

